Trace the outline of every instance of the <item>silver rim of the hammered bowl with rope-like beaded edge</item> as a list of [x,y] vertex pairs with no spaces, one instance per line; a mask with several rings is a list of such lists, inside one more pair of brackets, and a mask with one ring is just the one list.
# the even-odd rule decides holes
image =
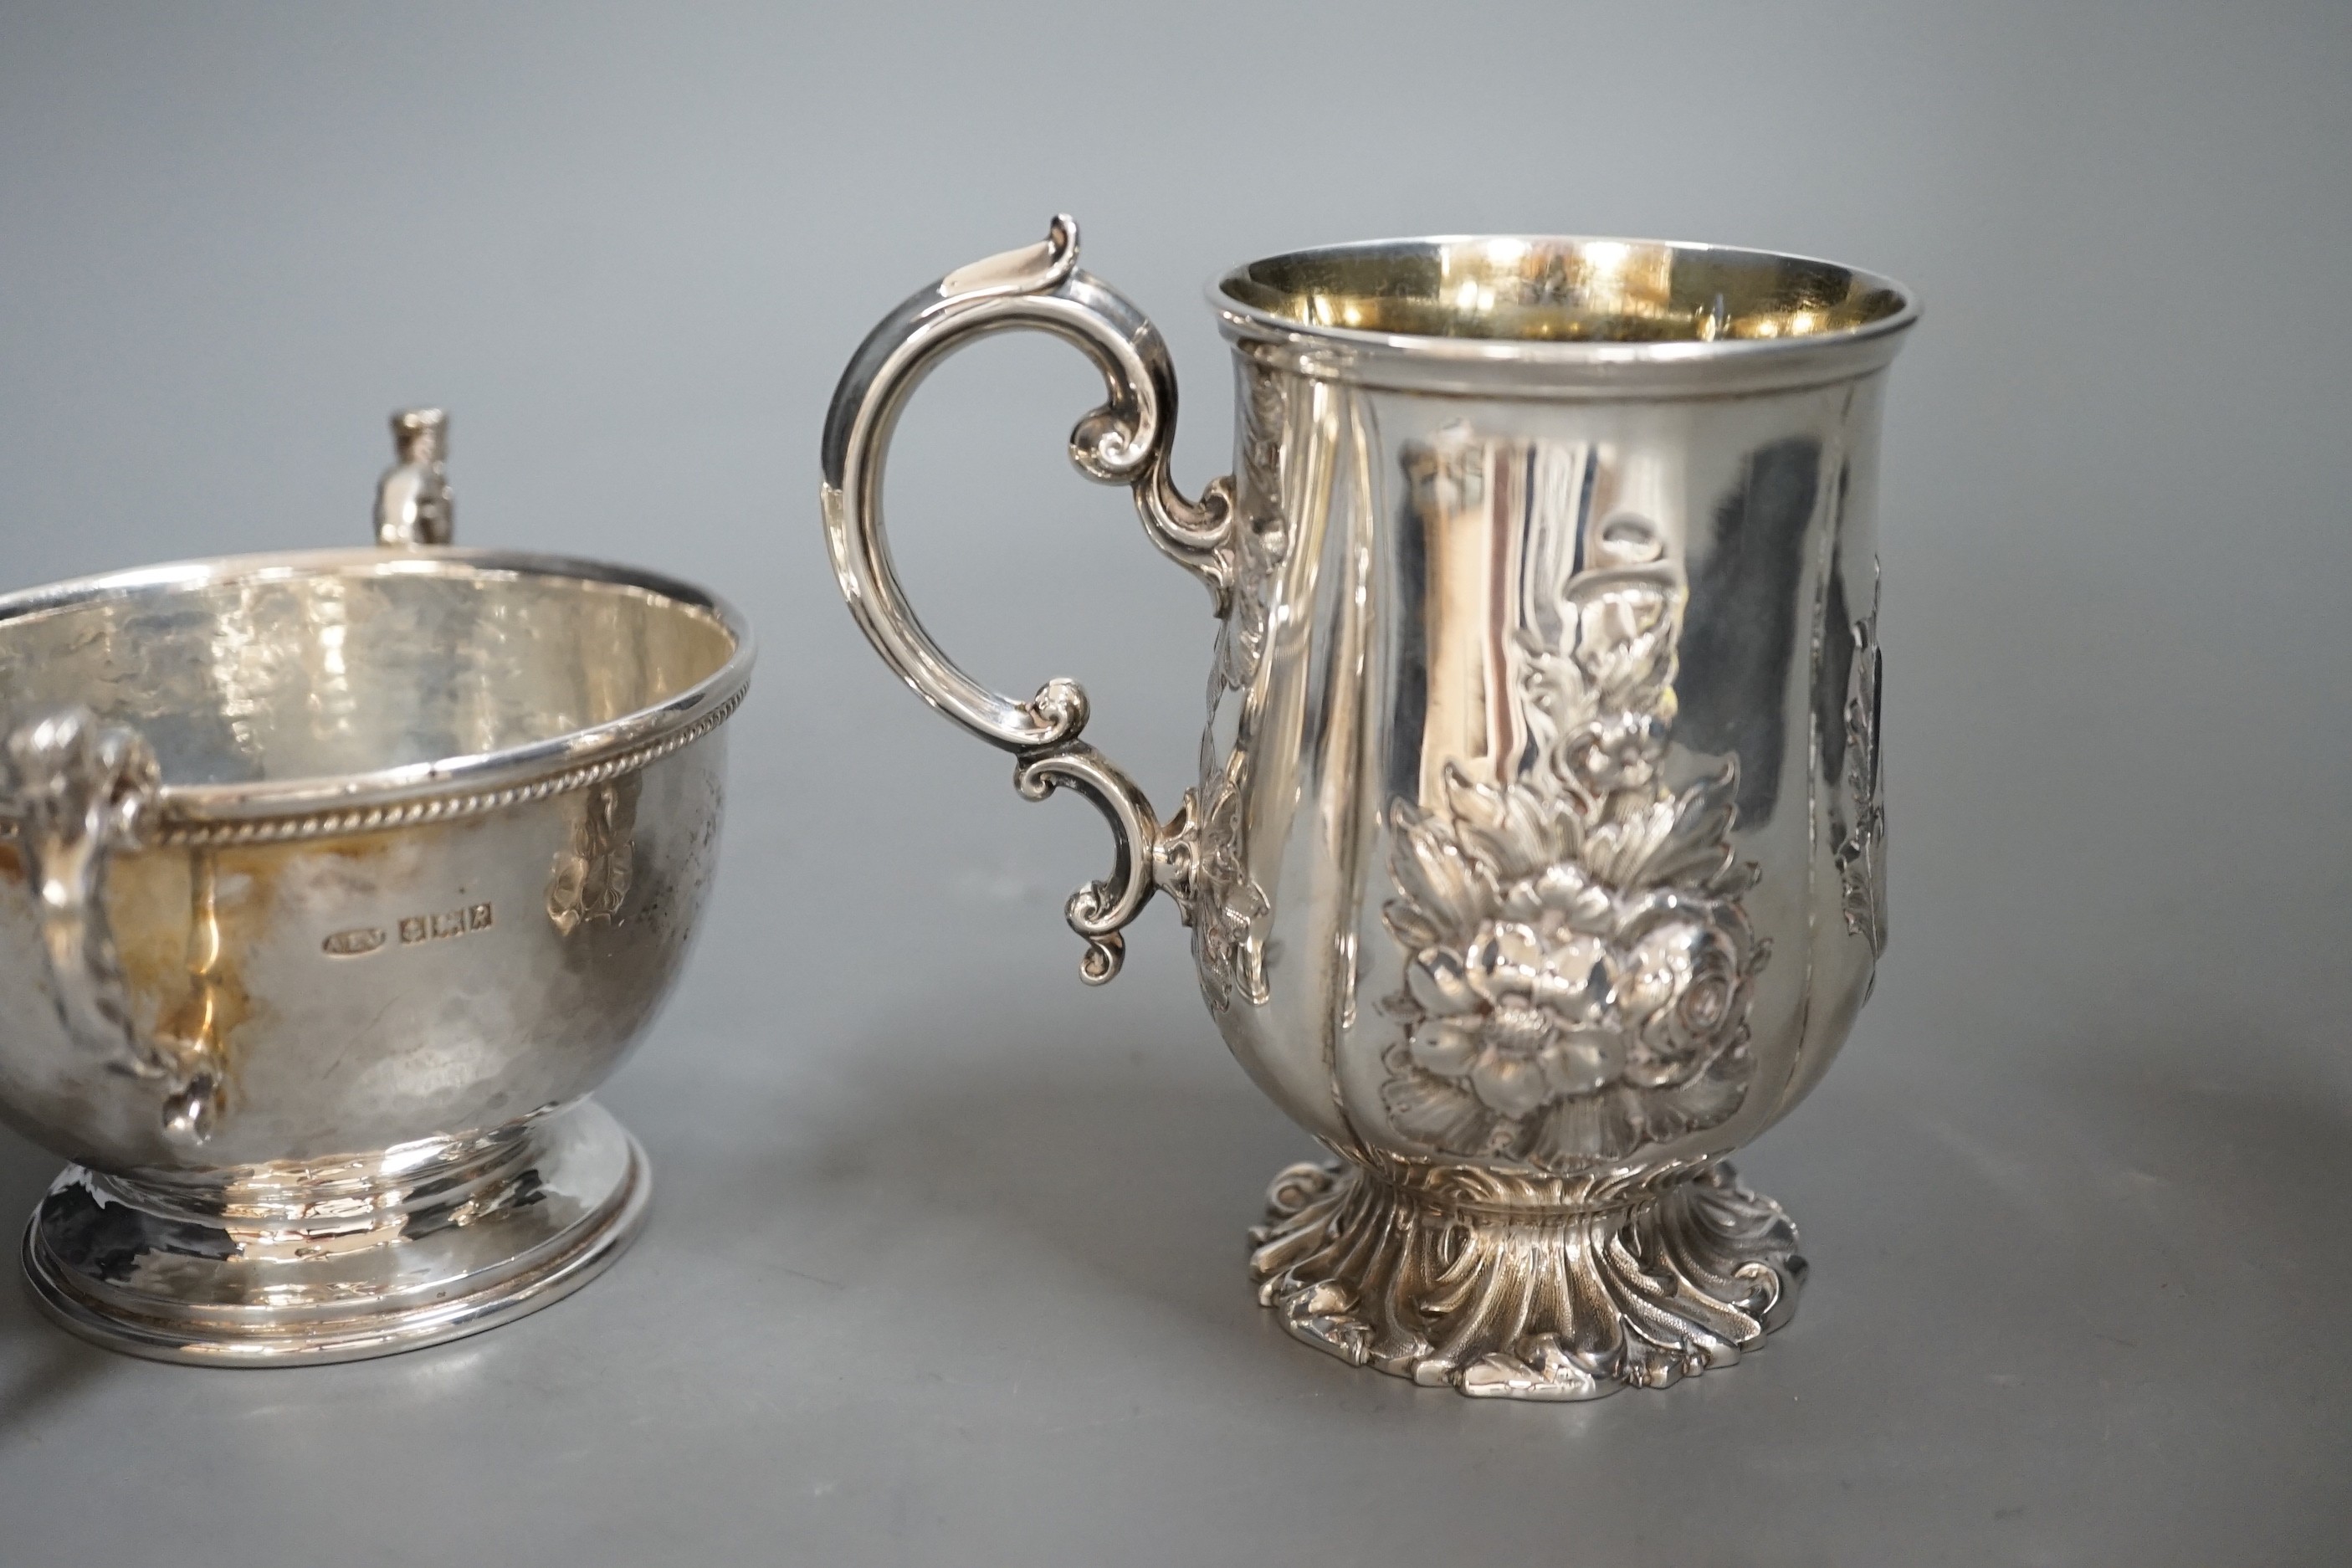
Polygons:
[[[470,545],[386,550],[355,545],[266,555],[214,555],[129,567],[0,595],[0,625],[21,616],[132,599],[214,583],[268,583],[308,576],[550,576],[635,588],[717,618],[734,639],[727,661],[668,701],[543,741],[492,752],[437,757],[358,773],[174,785],[162,780],[155,816],[167,839],[325,837],[414,820],[447,820],[586,788],[677,750],[727,722],[750,684],[757,658],[750,623],[724,597],[640,567]],[[219,825],[221,835],[202,835]],[[7,823],[0,820],[0,830]],[[240,830],[242,827],[242,830]],[[249,830],[249,832],[245,832]]]

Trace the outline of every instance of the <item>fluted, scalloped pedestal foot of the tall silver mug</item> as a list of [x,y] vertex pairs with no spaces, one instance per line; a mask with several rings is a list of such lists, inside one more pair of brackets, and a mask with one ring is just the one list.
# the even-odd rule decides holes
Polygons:
[[1592,1208],[1512,1204],[1508,1178],[1291,1166],[1249,1232],[1258,1300],[1350,1366],[1486,1399],[1665,1387],[1788,1324],[1797,1227],[1731,1166]]

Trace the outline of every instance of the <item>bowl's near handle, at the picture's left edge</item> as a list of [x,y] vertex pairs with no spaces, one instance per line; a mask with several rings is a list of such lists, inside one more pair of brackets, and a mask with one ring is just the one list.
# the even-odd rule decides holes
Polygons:
[[61,708],[7,738],[12,818],[26,882],[40,910],[49,997],[66,1034],[136,1079],[165,1079],[165,1133],[202,1143],[216,1095],[181,1053],[132,1016],[115,933],[106,922],[106,858],[139,849],[155,811],[155,752],[134,729],[101,726],[87,708]]

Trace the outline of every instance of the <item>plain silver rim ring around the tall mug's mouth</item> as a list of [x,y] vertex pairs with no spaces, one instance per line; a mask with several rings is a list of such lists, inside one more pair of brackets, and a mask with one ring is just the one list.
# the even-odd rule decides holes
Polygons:
[[[1348,259],[1369,254],[1409,254],[1425,252],[1435,247],[1491,247],[1491,244],[1526,244],[1526,247],[1635,247],[1635,249],[1668,249],[1677,254],[1715,256],[1724,261],[1752,261],[1762,266],[1802,266],[1802,268],[1835,268],[1851,280],[1853,289],[1889,292],[1900,303],[1896,310],[1858,322],[1851,327],[1835,327],[1828,331],[1806,331],[1802,336],[1771,336],[1771,339],[1649,339],[1649,341],[1613,341],[1613,339],[1508,339],[1508,336],[1446,336],[1446,334],[1423,334],[1423,331],[1385,331],[1369,327],[1341,327],[1327,322],[1308,322],[1279,310],[1270,310],[1261,303],[1251,303],[1235,294],[1237,284],[1249,284],[1256,268],[1272,263],[1303,263],[1315,259]],[[1263,287],[1263,284],[1261,284]],[[1456,233],[1456,235],[1404,235],[1390,240],[1350,240],[1341,244],[1310,244],[1289,252],[1275,252],[1244,261],[1207,287],[1209,306],[1218,313],[1225,336],[1237,341],[1277,343],[1305,355],[1317,355],[1324,369],[1350,367],[1371,362],[1418,362],[1428,367],[1430,374],[1444,376],[1451,371],[1475,374],[1479,367],[1496,369],[1529,369],[1536,374],[1557,374],[1564,378],[1581,376],[1623,376],[1635,374],[1639,378],[1656,376],[1708,376],[1733,371],[1743,381],[1748,378],[1771,378],[1778,381],[1783,374],[1795,378],[1806,378],[1804,367],[1818,367],[1825,360],[1839,362],[1842,371],[1830,371],[1823,378],[1835,378],[1835,374],[1851,374],[1853,362],[1865,367],[1884,364],[1893,353],[1893,339],[1905,334],[1919,322],[1919,294],[1907,284],[1867,268],[1856,268],[1844,261],[1830,261],[1823,256],[1806,256],[1799,252],[1771,252],[1738,244],[1712,244],[1700,240],[1651,240],[1651,237],[1628,237],[1628,235],[1529,235],[1529,233]],[[1802,362],[1802,364],[1799,364]],[[1875,364],[1872,364],[1875,362]],[[1312,369],[1312,364],[1308,367]]]

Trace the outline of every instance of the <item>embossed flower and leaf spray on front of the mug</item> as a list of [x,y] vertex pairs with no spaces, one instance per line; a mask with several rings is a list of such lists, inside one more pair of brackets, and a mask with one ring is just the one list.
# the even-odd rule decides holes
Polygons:
[[1522,632],[1534,766],[1501,785],[1449,766],[1439,809],[1390,806],[1383,914],[1411,957],[1383,1100],[1446,1154],[1583,1171],[1748,1093],[1769,943],[1729,844],[1738,762],[1661,783],[1684,585],[1646,522],[1609,536],[1635,559],[1566,583],[1569,646]]

